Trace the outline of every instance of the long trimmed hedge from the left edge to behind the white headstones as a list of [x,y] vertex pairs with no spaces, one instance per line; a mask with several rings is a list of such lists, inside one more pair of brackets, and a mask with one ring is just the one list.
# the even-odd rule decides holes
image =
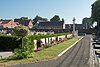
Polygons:
[[[30,35],[26,36],[28,38],[28,42],[23,39],[18,39],[16,36],[7,36],[7,35],[0,35],[0,50],[14,50],[15,48],[22,48],[22,43],[24,43],[24,46],[26,44],[32,44],[32,41],[34,39],[37,40],[38,46],[41,47],[40,45],[40,39],[41,38],[48,38],[48,37],[58,37],[60,35],[67,35],[65,34],[52,34],[52,35]],[[26,43],[26,44],[25,44]]]

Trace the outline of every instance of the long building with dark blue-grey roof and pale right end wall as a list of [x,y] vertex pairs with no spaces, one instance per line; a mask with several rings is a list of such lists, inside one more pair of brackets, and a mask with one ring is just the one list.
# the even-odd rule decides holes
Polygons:
[[38,22],[38,29],[65,29],[64,21],[58,22]]

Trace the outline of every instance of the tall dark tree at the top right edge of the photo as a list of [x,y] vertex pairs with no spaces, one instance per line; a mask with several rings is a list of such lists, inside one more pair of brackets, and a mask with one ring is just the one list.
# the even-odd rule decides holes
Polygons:
[[100,28],[100,0],[96,0],[92,4],[92,21],[97,22],[97,28]]

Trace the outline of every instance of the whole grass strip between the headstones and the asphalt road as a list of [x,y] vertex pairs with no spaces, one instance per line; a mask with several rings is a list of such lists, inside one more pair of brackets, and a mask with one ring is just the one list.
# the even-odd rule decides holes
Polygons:
[[[0,60],[0,66],[10,66],[10,65],[16,65],[16,64],[25,64],[25,63],[33,63],[37,61],[42,61],[42,60],[51,60],[57,55],[71,46],[73,43],[75,43],[77,40],[80,38],[73,38],[70,40],[67,40],[65,42],[62,42],[60,44],[56,44],[52,47],[49,48],[43,48],[41,51],[38,52],[33,52],[33,58],[26,58],[26,59],[21,59],[21,60],[12,60],[12,59],[4,59]],[[11,58],[11,57],[10,57]]]

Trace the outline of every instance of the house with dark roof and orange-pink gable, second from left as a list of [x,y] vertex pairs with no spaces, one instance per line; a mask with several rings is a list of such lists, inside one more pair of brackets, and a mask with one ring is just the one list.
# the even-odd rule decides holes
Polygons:
[[33,24],[32,24],[32,20],[14,20],[14,22],[16,24],[21,24],[21,25],[24,25],[24,26],[27,26],[28,28],[32,28],[33,27]]

